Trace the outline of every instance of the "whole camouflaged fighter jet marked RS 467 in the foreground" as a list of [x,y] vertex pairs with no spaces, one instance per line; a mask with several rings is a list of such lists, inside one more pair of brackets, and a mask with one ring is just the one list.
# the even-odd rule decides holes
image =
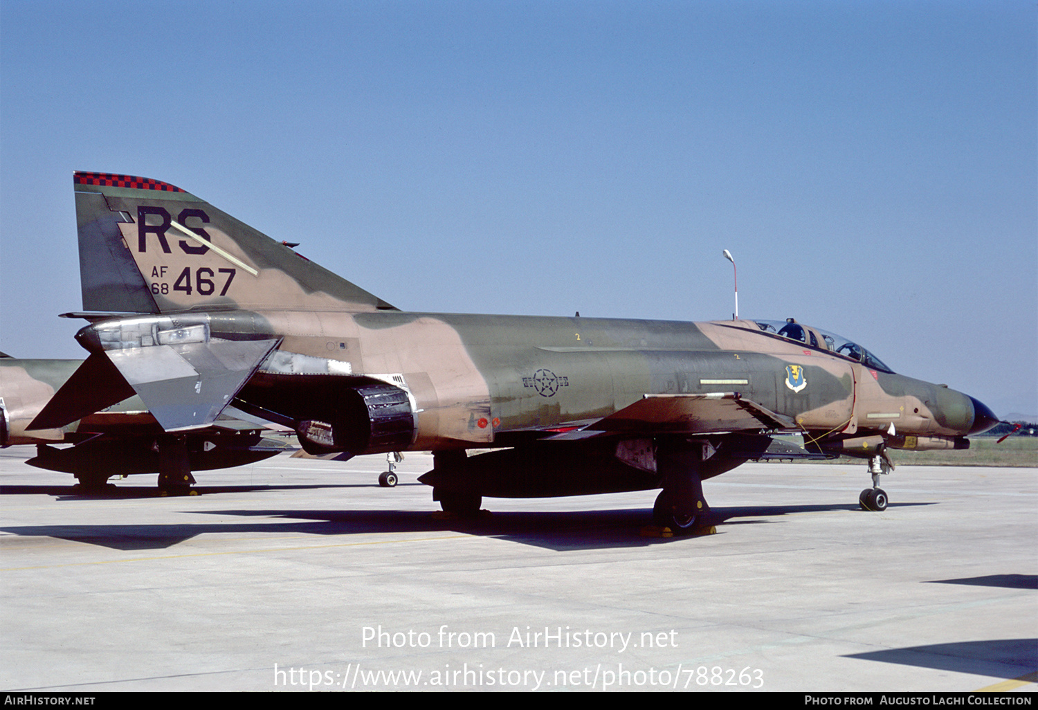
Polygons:
[[861,504],[881,511],[890,449],[965,448],[998,421],[794,319],[406,312],[168,183],[73,182],[84,311],[66,316],[89,322],[89,357],[31,426],[132,389],[171,477],[185,437],[233,405],[310,453],[431,450],[419,481],[458,515],[484,496],[661,489],[654,520],[687,530],[707,519],[702,482],[746,461],[862,457]]

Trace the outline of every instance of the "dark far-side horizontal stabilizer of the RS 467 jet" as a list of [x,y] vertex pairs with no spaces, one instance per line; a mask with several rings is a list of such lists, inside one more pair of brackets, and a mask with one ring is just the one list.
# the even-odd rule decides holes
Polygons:
[[59,429],[133,394],[133,387],[109,359],[93,354],[61,385],[28,429]]

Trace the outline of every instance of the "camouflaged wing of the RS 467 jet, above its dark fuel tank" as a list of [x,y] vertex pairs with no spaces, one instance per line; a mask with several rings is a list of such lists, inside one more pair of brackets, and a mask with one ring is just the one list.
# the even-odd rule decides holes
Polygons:
[[791,418],[738,392],[644,394],[634,404],[583,429],[549,438],[585,439],[603,434],[719,434],[796,428]]

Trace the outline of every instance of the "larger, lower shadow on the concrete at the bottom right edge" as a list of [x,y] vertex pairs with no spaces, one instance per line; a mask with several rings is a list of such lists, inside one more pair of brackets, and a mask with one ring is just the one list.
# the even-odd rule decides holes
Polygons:
[[994,678],[1031,682],[1038,680],[1038,673],[1035,671],[1038,667],[1038,638],[998,638],[912,646],[854,653],[845,657]]

